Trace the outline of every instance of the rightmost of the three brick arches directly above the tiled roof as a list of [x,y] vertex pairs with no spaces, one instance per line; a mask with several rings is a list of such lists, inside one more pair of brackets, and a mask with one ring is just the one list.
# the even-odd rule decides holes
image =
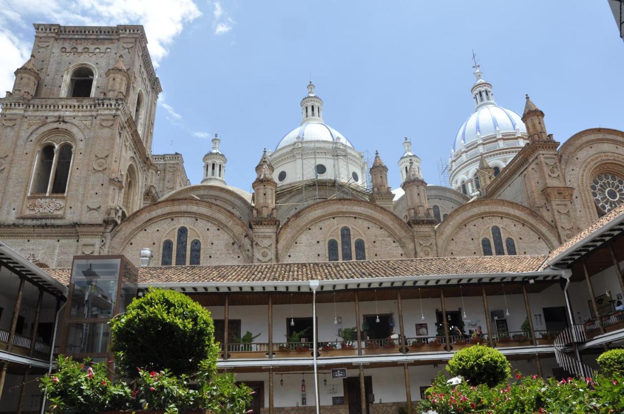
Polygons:
[[[480,226],[468,226],[476,219],[483,219]],[[487,219],[487,220],[486,220]],[[510,221],[520,224],[522,230],[509,228],[509,232],[517,236],[520,231],[524,232],[529,238],[535,238],[544,241],[545,248],[549,251],[557,248],[560,244],[560,240],[557,234],[557,230],[548,223],[542,216],[534,213],[530,209],[521,206],[511,201],[505,200],[477,200],[467,203],[456,210],[454,210],[446,220],[442,221],[436,228],[436,239],[438,246],[439,256],[466,256],[467,254],[457,254],[453,251],[453,246],[456,238],[464,239],[466,243],[470,243],[474,248],[473,251],[480,255],[480,248],[477,249],[477,242],[480,243],[480,234],[482,233],[482,226],[491,226],[496,224],[498,226],[510,226],[510,223],[500,223],[500,220]],[[518,248],[519,240],[514,237],[514,241],[519,254],[522,251]],[[526,241],[524,242],[526,244]],[[535,254],[548,253],[533,252]],[[528,253],[527,253],[528,254]],[[472,253],[469,254],[472,256]]]

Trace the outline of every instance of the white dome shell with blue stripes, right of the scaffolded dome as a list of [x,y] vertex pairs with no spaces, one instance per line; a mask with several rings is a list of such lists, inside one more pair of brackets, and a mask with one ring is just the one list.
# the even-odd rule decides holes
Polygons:
[[477,133],[482,139],[487,137],[514,133],[524,133],[527,128],[522,117],[514,111],[496,105],[487,105],[477,109],[457,132],[455,147],[457,151],[462,147],[462,140],[466,145],[477,140]]

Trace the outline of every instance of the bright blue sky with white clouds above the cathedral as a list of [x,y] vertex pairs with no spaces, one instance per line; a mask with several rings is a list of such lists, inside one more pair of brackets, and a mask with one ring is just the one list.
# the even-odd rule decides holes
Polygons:
[[164,91],[153,150],[182,153],[193,184],[217,131],[228,184],[250,190],[262,149],[299,125],[310,74],[324,120],[379,150],[393,188],[404,135],[437,184],[474,110],[472,49],[497,103],[522,113],[530,94],[555,140],[624,129],[624,43],[607,0],[0,0],[4,90],[32,22],[145,24]]

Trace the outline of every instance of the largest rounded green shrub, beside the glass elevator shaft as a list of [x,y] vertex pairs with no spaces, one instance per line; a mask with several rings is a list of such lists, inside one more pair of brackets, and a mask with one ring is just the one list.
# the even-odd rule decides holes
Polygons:
[[111,320],[110,330],[115,364],[130,377],[139,367],[193,373],[200,361],[217,360],[210,312],[179,292],[150,289]]

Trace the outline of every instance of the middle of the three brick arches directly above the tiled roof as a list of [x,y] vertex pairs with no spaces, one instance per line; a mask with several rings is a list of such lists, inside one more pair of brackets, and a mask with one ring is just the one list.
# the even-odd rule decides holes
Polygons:
[[[379,226],[382,232],[388,234],[389,238],[392,238],[392,241],[397,243],[396,248],[399,250],[396,252],[398,252],[398,257],[414,258],[415,256],[414,238],[411,228],[409,228],[404,221],[391,213],[391,211],[369,201],[339,199],[324,200],[314,203],[291,216],[291,218],[283,224],[278,232],[279,260],[288,261],[288,254],[290,254],[295,242],[303,233],[312,228],[314,228],[314,231],[317,231],[316,223],[333,218],[342,218],[346,223],[344,225],[353,226],[363,234],[366,234],[368,229],[366,229],[366,226],[361,222],[357,222],[358,219],[368,221],[374,224],[374,226]],[[323,243],[326,241],[327,231],[335,226],[338,226],[338,224],[332,223],[328,224],[326,228],[322,230],[318,229],[318,241],[320,242],[318,243],[320,245],[319,251],[321,251],[321,248],[323,251],[326,249],[327,246]],[[371,233],[373,232],[371,231]],[[364,242],[366,243],[366,258],[374,259],[374,256],[369,257],[368,255],[369,249],[373,246],[370,238],[364,239]],[[314,244],[314,246],[316,246],[316,244]],[[402,256],[400,256],[400,254],[402,254]],[[321,254],[319,259],[324,261],[324,256],[326,256],[326,253]],[[309,260],[306,259],[306,261]]]

